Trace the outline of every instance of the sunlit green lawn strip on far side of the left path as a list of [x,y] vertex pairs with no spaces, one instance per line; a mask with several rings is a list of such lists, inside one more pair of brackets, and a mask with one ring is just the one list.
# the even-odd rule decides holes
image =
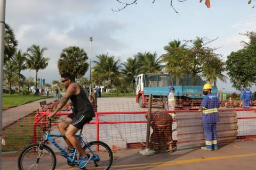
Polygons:
[[3,94],[3,109],[11,106],[17,106],[21,104],[28,103],[29,101],[35,101],[38,99],[51,98],[52,96],[34,96],[34,94],[30,95],[22,95],[22,94]]

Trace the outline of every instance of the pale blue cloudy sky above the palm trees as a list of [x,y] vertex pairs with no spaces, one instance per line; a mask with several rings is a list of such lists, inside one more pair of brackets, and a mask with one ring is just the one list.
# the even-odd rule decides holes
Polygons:
[[[156,52],[160,56],[170,41],[196,37],[219,37],[211,47],[218,47],[217,53],[226,60],[246,40],[239,32],[256,31],[256,8],[247,1],[214,0],[210,9],[198,1],[174,1],[179,14],[169,0],[151,2],[138,0],[113,12],[112,8],[122,7],[116,0],[7,0],[5,21],[14,29],[19,49],[26,51],[33,44],[47,47],[45,56],[51,60],[42,71],[46,82],[59,80],[57,61],[63,48],[79,46],[90,56],[90,30],[92,60],[95,55],[108,53],[122,62],[138,52]],[[22,73],[34,76],[33,71]],[[217,86],[234,90],[229,81],[218,82]]]

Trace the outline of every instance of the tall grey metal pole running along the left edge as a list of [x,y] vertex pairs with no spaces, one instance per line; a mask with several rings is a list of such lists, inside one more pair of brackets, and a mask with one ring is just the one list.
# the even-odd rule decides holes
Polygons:
[[[5,0],[0,0],[0,137],[3,137],[2,131],[2,101],[3,101],[3,69],[4,69],[4,28],[5,28]],[[1,138],[2,139],[2,138]],[[0,141],[0,169],[2,169],[2,141]]]

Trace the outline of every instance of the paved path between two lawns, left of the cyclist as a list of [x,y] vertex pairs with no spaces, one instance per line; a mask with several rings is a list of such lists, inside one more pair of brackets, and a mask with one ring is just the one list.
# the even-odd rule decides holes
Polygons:
[[25,117],[29,115],[30,113],[36,111],[37,109],[41,109],[39,102],[46,100],[46,103],[52,103],[53,101],[57,100],[58,98],[53,94],[53,98],[47,98],[47,99],[40,99],[36,101],[32,101],[30,103],[20,105],[17,107],[12,107],[5,109],[2,111],[3,116],[3,128],[9,124],[12,124],[13,122],[19,120],[22,117]]

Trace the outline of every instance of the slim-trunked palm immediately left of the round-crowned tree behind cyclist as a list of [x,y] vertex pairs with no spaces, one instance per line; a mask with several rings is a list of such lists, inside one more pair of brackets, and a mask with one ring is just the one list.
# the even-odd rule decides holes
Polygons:
[[[37,45],[32,45],[28,48],[28,53],[26,53],[27,56],[27,67],[30,70],[36,71],[36,80],[37,80],[37,73],[40,69],[45,69],[48,65],[48,61],[50,58],[44,57],[44,52],[47,50],[47,48],[43,47],[42,49]],[[37,88],[37,82],[36,82],[36,88]]]

